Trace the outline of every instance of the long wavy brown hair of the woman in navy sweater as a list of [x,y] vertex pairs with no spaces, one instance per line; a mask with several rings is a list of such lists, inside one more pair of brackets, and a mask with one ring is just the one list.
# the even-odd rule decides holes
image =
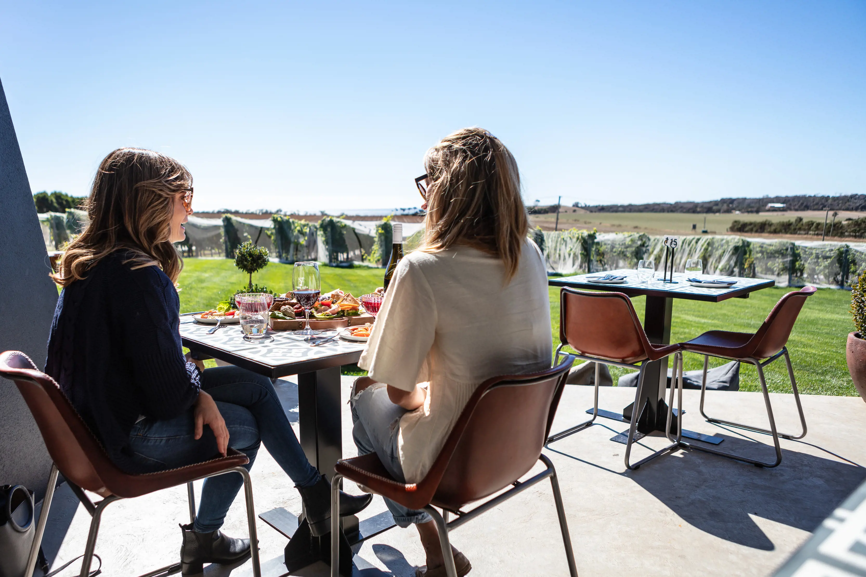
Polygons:
[[140,148],[119,148],[100,163],[87,198],[87,228],[73,240],[51,275],[58,285],[83,279],[108,254],[125,250],[132,268],[159,266],[175,282],[183,261],[171,244],[174,196],[192,176],[171,157]]

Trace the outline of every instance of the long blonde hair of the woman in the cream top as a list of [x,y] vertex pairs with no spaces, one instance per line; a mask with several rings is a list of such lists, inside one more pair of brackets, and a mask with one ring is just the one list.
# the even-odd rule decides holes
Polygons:
[[506,279],[514,277],[529,221],[517,162],[505,144],[481,128],[463,128],[427,151],[424,164],[423,250],[469,245],[500,258]]

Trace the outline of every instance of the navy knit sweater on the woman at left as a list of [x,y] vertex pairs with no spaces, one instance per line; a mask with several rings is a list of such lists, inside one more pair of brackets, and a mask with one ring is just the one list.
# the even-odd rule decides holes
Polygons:
[[45,372],[60,384],[108,457],[131,473],[139,415],[171,419],[198,397],[199,373],[178,333],[180,300],[157,266],[132,270],[115,252],[61,292]]

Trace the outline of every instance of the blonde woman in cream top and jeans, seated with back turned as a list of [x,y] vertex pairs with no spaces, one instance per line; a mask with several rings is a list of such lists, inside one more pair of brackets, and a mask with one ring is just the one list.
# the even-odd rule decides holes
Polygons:
[[[517,163],[480,128],[456,131],[424,159],[417,179],[428,209],[422,250],[400,261],[361,356],[353,437],[406,483],[421,481],[475,388],[494,375],[550,368],[544,259],[527,239]],[[415,524],[427,555],[417,575],[445,574],[436,525],[388,501]],[[469,573],[455,552],[457,573]]]

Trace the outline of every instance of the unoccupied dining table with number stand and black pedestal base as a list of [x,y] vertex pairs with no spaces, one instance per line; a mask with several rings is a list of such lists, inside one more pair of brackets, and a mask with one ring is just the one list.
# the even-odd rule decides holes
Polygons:
[[[614,281],[604,281],[604,277],[621,277]],[[677,298],[685,300],[699,300],[706,303],[721,303],[729,298],[748,298],[749,294],[761,289],[775,285],[772,279],[747,279],[742,277],[722,275],[701,275],[696,280],[725,280],[734,281],[734,284],[726,288],[709,288],[706,286],[695,286],[689,279],[695,279],[694,275],[682,272],[668,273],[669,279],[662,279],[662,272],[655,272],[650,279],[641,279],[637,270],[616,269],[611,271],[589,272],[567,277],[550,277],[548,285],[568,286],[576,289],[591,291],[622,292],[630,298],[646,297],[643,312],[643,330],[646,332],[650,343],[669,344],[671,317],[674,309],[674,300]],[[708,327],[709,328],[709,327]],[[713,328],[724,329],[724,324]],[[696,337],[697,335],[695,335]],[[665,430],[667,423],[668,404],[664,400],[665,390],[668,387],[668,357],[658,361],[648,362],[644,376],[643,396],[638,400],[638,407],[632,402],[624,407],[622,412],[598,411],[600,416],[608,419],[631,422],[633,415],[637,414],[637,432],[649,434],[653,431]],[[591,414],[590,408],[587,413]],[[676,409],[674,409],[676,414]],[[676,420],[672,426],[675,427]],[[693,431],[682,431],[683,437],[698,439],[708,443],[718,444],[721,438],[695,433]],[[617,438],[615,438],[617,439]]]

